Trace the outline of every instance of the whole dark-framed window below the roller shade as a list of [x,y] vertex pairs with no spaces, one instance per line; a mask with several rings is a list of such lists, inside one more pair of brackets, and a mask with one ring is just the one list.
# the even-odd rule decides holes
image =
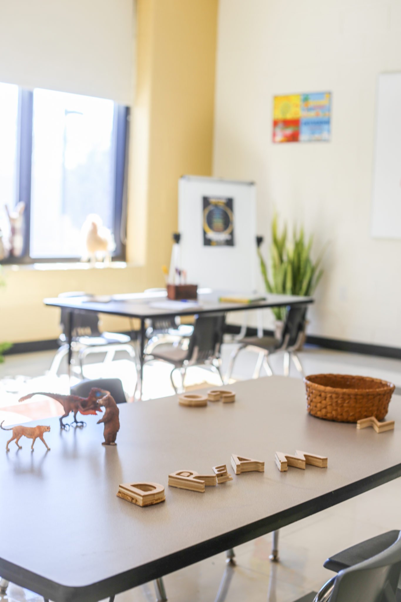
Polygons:
[[90,214],[123,257],[127,111],[105,99],[0,84],[0,195],[26,205],[23,252],[8,261],[79,259]]

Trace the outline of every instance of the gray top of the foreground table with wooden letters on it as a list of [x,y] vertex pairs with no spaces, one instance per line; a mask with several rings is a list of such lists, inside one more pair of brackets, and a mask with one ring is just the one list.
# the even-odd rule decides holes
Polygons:
[[[55,602],[100,600],[271,532],[401,475],[400,398],[394,431],[318,420],[301,380],[265,377],[232,386],[236,402],[179,406],[177,397],[120,405],[117,447],[102,425],[60,431],[58,419],[30,442],[0,447],[0,575]],[[328,456],[328,468],[280,473],[276,451]],[[201,494],[169,488],[168,474],[210,474],[231,453],[265,461]],[[141,508],[116,496],[120,483],[150,480],[166,501]]]

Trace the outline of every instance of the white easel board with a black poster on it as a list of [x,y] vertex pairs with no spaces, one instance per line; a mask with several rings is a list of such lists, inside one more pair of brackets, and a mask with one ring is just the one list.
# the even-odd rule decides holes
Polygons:
[[179,180],[182,268],[198,287],[256,290],[256,185],[201,176]]

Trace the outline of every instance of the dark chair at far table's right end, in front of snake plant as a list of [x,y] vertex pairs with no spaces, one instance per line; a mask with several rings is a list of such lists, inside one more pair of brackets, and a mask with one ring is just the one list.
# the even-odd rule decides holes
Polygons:
[[243,350],[259,353],[253,378],[258,378],[265,368],[268,376],[272,376],[273,371],[269,364],[269,356],[274,353],[284,353],[284,376],[289,376],[290,361],[292,360],[299,373],[304,376],[301,362],[299,361],[296,350],[302,343],[305,330],[305,316],[307,308],[305,306],[291,306],[287,311],[287,318],[283,327],[281,340],[277,341],[274,337],[244,337],[239,341],[239,346],[234,349],[230,356],[225,382],[230,382],[233,373],[234,363],[238,354]]

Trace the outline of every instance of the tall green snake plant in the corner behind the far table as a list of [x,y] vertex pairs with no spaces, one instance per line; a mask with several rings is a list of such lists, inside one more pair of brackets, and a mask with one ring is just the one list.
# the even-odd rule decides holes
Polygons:
[[[292,241],[287,241],[287,225],[280,232],[278,216],[272,220],[272,243],[270,249],[270,270],[266,267],[260,248],[258,255],[260,270],[268,293],[311,296],[322,278],[323,270],[319,268],[325,249],[316,261],[311,258],[313,236],[305,240],[304,229],[295,228]],[[272,308],[275,317],[275,337],[281,338],[286,308]]]

